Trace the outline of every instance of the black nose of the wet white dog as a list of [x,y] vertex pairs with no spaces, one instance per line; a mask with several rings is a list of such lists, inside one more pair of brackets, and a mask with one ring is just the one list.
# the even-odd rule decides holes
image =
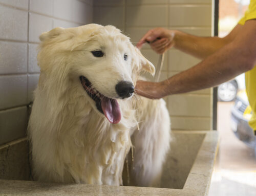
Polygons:
[[132,82],[120,81],[116,84],[116,92],[123,99],[131,97],[134,93],[134,85]]

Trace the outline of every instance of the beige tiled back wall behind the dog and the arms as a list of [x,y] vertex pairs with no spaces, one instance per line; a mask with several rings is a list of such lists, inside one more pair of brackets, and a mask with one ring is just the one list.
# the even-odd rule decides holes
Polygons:
[[[210,36],[211,0],[94,0],[94,23],[120,28],[136,42],[154,27],[178,29]],[[154,64],[158,55],[145,45],[142,53]],[[164,60],[161,79],[173,76],[200,62],[175,49]],[[149,77],[150,78],[150,77]],[[212,90],[206,89],[165,98],[174,130],[208,130],[212,124]]]

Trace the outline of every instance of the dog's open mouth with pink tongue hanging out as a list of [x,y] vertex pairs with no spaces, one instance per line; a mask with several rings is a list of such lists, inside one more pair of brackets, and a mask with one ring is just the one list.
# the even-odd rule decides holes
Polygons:
[[80,76],[80,81],[83,89],[95,101],[98,111],[104,114],[111,123],[118,123],[121,120],[121,111],[117,100],[99,93],[86,77]]

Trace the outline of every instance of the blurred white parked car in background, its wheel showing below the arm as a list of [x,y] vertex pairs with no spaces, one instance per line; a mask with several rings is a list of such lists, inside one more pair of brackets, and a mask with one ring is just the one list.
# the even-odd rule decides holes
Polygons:
[[218,86],[218,99],[220,101],[233,101],[238,91],[243,89],[245,89],[245,76],[241,74]]

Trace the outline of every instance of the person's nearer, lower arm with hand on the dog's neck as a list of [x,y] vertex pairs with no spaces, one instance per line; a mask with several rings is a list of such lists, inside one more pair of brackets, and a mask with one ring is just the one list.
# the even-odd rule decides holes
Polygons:
[[256,19],[247,20],[227,45],[196,66],[162,82],[137,81],[136,93],[159,99],[167,95],[210,88],[251,70],[256,63]]

